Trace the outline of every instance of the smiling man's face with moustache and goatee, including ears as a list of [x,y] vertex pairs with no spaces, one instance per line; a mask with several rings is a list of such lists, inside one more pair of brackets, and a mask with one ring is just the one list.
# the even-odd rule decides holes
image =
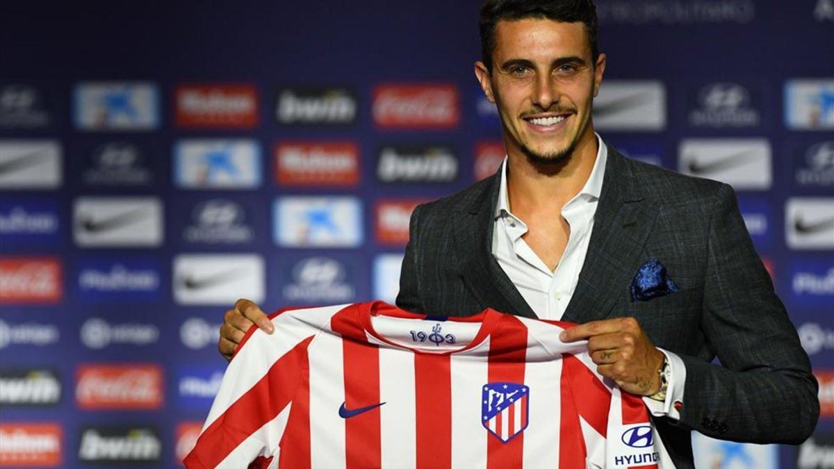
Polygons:
[[591,104],[605,55],[593,63],[583,23],[500,21],[492,58],[492,70],[478,62],[475,74],[498,106],[510,154],[561,163],[582,139],[593,138]]

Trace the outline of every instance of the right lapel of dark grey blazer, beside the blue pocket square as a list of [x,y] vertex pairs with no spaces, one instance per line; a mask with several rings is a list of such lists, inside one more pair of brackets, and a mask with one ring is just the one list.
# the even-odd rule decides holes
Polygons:
[[612,313],[615,300],[627,295],[656,213],[625,157],[609,146],[588,254],[562,320],[585,323]]

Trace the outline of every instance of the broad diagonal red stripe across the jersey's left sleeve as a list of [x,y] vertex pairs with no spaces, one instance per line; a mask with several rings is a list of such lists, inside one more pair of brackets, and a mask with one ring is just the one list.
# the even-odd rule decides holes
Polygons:
[[[307,362],[307,346],[312,340],[313,336],[309,336],[275,361],[252,389],[234,401],[203,431],[193,451],[183,461],[187,467],[217,466],[234,448],[284,410],[293,400],[299,384],[306,381],[299,380],[299,377],[304,377],[306,366],[302,364]],[[288,376],[293,377],[293,381],[290,382]],[[292,414],[293,411],[290,411],[290,419]],[[292,420],[288,422],[288,427],[290,423]]]

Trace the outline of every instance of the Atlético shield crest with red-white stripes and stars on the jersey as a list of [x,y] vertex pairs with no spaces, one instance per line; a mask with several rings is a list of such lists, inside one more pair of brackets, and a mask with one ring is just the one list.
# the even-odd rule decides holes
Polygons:
[[502,443],[512,440],[530,421],[530,388],[516,383],[487,383],[481,399],[481,424]]

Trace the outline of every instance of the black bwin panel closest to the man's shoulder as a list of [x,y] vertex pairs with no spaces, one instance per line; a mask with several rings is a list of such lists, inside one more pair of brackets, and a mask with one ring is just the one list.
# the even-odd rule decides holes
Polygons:
[[445,145],[384,145],[376,164],[383,183],[450,183],[458,172],[455,151]]

